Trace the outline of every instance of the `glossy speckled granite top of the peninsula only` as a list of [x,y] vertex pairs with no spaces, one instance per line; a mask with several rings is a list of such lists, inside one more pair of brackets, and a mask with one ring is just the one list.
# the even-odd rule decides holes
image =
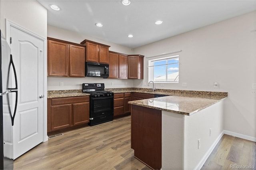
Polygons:
[[[184,95],[185,96],[185,95]],[[188,95],[182,96],[165,96],[151,99],[143,99],[137,101],[129,101],[132,105],[178,113],[182,115],[193,115],[198,111],[205,109],[223,99],[227,96],[209,96],[209,95]]]

